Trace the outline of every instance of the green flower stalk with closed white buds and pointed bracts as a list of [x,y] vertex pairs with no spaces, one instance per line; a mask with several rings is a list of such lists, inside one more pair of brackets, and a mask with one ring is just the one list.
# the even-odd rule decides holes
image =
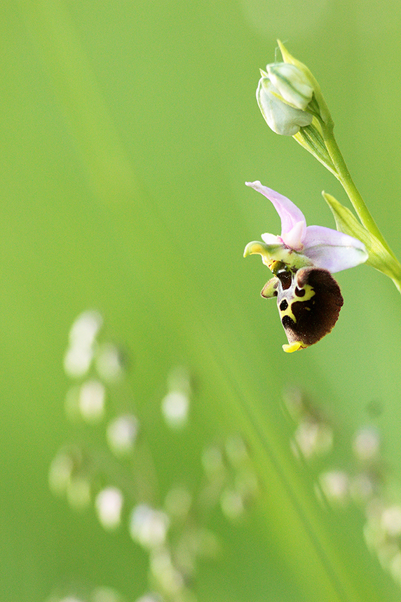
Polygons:
[[[337,228],[365,243],[369,253],[367,264],[389,276],[401,293],[401,264],[351,178],[334,138],[334,122],[318,81],[306,65],[290,55],[280,40],[278,46],[284,62],[267,65],[259,81],[257,97],[264,119],[276,133],[292,135],[339,180],[360,222],[338,201],[333,199],[334,202],[331,202],[332,197],[323,194],[334,213]],[[269,111],[264,110],[267,105],[261,90],[269,90],[275,97],[275,101],[269,105]]]

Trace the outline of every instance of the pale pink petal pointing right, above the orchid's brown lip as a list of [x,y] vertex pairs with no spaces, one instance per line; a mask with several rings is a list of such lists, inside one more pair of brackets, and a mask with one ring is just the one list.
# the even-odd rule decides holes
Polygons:
[[343,232],[323,226],[308,226],[304,237],[304,255],[316,267],[329,272],[355,267],[367,260],[365,245]]

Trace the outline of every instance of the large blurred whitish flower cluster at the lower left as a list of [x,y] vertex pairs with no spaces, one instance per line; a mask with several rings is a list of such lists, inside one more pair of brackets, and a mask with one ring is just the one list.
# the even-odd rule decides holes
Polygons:
[[[219,551],[217,537],[199,516],[220,507],[227,519],[236,521],[258,492],[247,446],[240,436],[206,446],[198,493],[173,485],[156,503],[157,466],[132,410],[122,354],[102,341],[102,324],[97,312],[83,312],[69,333],[64,370],[73,382],[64,408],[88,441],[82,449],[66,446],[57,453],[49,471],[50,489],[66,497],[74,509],[92,506],[104,530],[127,529],[132,542],[147,552],[150,589],[136,602],[196,602],[193,582],[199,560],[214,558]],[[123,405],[116,411],[116,396],[122,392]],[[189,371],[176,366],[160,400],[161,416],[170,429],[182,432],[188,424],[192,395]],[[93,437],[96,451],[91,452]],[[120,602],[117,594],[104,588],[96,596],[59,596],[54,602]]]

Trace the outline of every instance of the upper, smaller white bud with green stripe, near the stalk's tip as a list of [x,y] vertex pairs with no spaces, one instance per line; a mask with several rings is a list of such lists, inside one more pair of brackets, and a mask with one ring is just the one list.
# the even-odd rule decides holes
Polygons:
[[273,62],[266,69],[271,83],[283,100],[304,111],[313,96],[313,87],[306,75],[287,62]]

